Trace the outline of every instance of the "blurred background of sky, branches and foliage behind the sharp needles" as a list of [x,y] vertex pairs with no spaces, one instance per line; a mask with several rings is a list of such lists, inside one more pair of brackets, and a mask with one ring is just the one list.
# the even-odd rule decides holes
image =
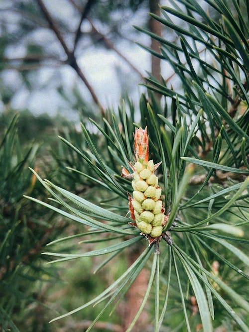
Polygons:
[[[48,322],[93,298],[127,267],[125,257],[99,275],[93,271],[102,258],[68,263],[66,268],[46,265],[47,257],[41,255],[46,244],[79,228],[22,195],[32,193],[46,200],[44,189],[28,170],[33,167],[43,177],[94,200],[91,180],[82,182],[65,170],[77,163],[77,157],[57,134],[81,145],[80,120],[89,116],[99,120],[107,107],[117,111],[121,98],[127,96],[130,108],[137,107],[138,96],[145,91],[137,83],[146,70],[157,78],[161,70],[170,77],[172,71],[165,65],[161,68],[160,59],[152,61],[135,44],[157,49],[158,42],[150,45],[150,38],[132,27],[136,24],[161,34],[160,24],[147,15],[159,13],[158,3],[0,1],[1,331],[84,331],[96,316],[95,308],[66,322]],[[104,198],[106,193],[98,189],[97,201]],[[91,250],[96,245],[84,243],[84,247]],[[146,281],[146,273],[143,278]],[[119,316],[113,316],[113,325],[106,328],[104,316],[94,331],[123,331],[124,321],[130,319],[126,305],[121,305]]]

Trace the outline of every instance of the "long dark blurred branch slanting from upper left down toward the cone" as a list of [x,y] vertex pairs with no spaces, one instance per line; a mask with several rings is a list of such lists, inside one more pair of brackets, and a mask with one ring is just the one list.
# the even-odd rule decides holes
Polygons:
[[50,15],[50,13],[48,12],[46,6],[44,5],[43,1],[42,0],[36,0],[41,11],[43,12],[43,15],[45,16],[51,30],[54,31],[54,33],[56,34],[56,37],[57,39],[59,40],[61,46],[63,47],[66,55],[67,55],[67,63],[69,64],[69,66],[71,66],[75,71],[76,73],[78,74],[78,76],[81,78],[81,80],[85,83],[86,87],[88,88],[94,102],[96,105],[98,105],[98,107],[100,108],[101,110],[101,113],[102,115],[104,116],[105,115],[105,109],[104,107],[101,105],[97,95],[95,94],[94,92],[94,89],[92,88],[91,84],[88,82],[86,76],[83,74],[82,70],[80,69],[77,61],[76,61],[76,58],[75,58],[75,55],[74,55],[74,52],[71,52],[69,50],[69,48],[67,47],[65,41],[64,41],[64,38],[62,36],[62,34],[60,33],[60,30],[58,29],[57,25],[56,25],[56,22],[54,21],[54,19],[52,18],[52,16]]

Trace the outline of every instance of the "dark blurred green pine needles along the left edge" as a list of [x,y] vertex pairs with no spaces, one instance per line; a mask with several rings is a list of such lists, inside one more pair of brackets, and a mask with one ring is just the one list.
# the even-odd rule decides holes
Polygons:
[[[38,331],[32,326],[39,325],[47,310],[39,288],[56,279],[56,270],[44,266],[41,251],[65,223],[53,228],[54,214],[23,198],[32,194],[45,199],[45,193],[28,170],[28,165],[37,166],[38,145],[23,137],[20,142],[17,122],[15,115],[2,128],[0,141],[0,326],[1,331]],[[42,331],[49,331],[46,323]]]

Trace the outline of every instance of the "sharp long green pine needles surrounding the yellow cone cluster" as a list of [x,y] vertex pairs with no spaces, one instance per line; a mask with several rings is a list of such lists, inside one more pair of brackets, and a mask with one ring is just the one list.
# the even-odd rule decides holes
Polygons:
[[[83,233],[49,243],[55,249],[44,254],[58,257],[51,264],[108,255],[103,256],[98,272],[127,249],[135,250],[137,243],[141,248],[136,260],[106,289],[51,322],[100,304],[99,314],[87,329],[90,331],[103,314],[113,314],[139,272],[147,267],[147,289],[126,331],[132,331],[149,298],[155,332],[162,326],[190,332],[200,329],[200,324],[204,332],[221,326],[228,331],[249,331],[245,286],[249,279],[245,254],[249,244],[247,20],[237,1],[206,0],[207,8],[215,11],[213,16],[198,1],[170,3],[172,8],[161,8],[162,17],[152,16],[175,31],[177,42],[153,35],[161,42],[161,53],[149,51],[173,67],[181,85],[175,91],[165,80],[159,82],[151,75],[145,84],[166,97],[165,109],[153,94],[149,98],[142,95],[140,123],[134,123],[134,109],[128,102],[128,109],[123,104],[117,114],[107,111],[100,124],[84,119],[81,140],[60,137],[72,151],[67,159],[67,152],[61,152],[63,163],[69,161],[70,174],[76,174],[84,184],[95,184],[100,193],[106,193],[105,199],[93,192],[87,200],[64,189],[58,179],[43,180],[32,170],[50,200],[35,193],[32,196],[36,198],[29,193],[26,197],[85,226]],[[180,27],[174,17],[184,20],[186,26]],[[120,177],[121,166],[130,170],[130,162],[134,162],[135,126],[148,127],[150,158],[154,163],[162,161],[158,177],[169,218],[161,242],[158,239],[150,246],[129,223],[127,192],[131,194],[132,187],[129,179]],[[80,246],[79,252],[58,248],[75,237],[100,246],[83,252]]]

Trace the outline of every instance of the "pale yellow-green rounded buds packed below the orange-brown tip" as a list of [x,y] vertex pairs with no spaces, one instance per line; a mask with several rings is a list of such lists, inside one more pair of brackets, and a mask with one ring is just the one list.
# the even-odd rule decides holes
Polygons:
[[134,189],[131,205],[137,227],[151,237],[162,234],[164,224],[164,208],[161,199],[162,190],[158,186],[158,178],[154,174],[153,160],[145,162],[140,159],[133,165]]

